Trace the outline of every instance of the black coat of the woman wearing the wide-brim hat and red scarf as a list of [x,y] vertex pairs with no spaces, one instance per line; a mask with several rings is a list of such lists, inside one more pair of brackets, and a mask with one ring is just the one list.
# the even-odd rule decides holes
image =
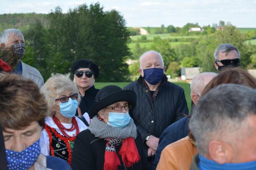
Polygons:
[[[75,145],[72,153],[71,167],[73,170],[103,170],[105,161],[106,141],[96,138],[90,130],[84,130],[76,136]],[[140,133],[137,133],[135,140],[140,161],[129,169],[124,167],[122,158],[119,156],[121,166],[118,170],[149,170],[148,162],[143,153],[143,143]],[[116,153],[119,152],[121,145],[116,146]]]

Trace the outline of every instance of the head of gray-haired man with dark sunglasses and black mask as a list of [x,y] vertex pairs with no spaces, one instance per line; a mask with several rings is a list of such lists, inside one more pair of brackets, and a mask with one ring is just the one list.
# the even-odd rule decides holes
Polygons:
[[215,61],[213,65],[218,71],[227,67],[238,67],[240,65],[240,52],[231,44],[221,44],[214,52]]

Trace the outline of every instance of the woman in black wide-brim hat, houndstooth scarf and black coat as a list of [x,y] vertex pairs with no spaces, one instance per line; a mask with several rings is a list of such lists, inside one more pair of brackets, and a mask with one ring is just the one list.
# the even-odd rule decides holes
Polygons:
[[75,141],[73,170],[147,170],[143,142],[128,111],[136,104],[134,91],[115,85],[102,88],[90,108],[93,117]]

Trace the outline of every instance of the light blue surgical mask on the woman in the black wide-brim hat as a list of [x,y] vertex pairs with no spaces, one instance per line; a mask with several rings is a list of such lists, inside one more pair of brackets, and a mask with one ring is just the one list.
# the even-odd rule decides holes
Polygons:
[[[107,112],[108,113],[108,112]],[[130,115],[129,112],[126,113],[116,113],[116,112],[109,112],[108,113],[108,125],[112,127],[116,127],[117,129],[122,129],[128,125],[130,122]]]

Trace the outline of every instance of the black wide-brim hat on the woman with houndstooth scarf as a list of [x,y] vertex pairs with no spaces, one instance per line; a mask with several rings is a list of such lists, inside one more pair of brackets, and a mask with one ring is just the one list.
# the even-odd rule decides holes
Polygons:
[[105,86],[96,94],[95,103],[88,114],[90,118],[93,118],[100,110],[121,101],[128,102],[132,106],[131,110],[133,110],[136,106],[137,95],[134,91],[122,90],[116,85]]

